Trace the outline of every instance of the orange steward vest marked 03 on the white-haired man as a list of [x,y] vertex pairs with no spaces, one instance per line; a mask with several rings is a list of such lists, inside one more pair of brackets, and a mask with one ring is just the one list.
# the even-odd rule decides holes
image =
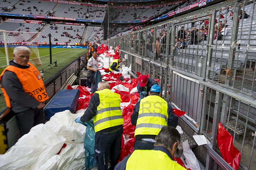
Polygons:
[[[25,69],[15,66],[7,66],[0,75],[0,81],[2,80],[2,76],[6,70],[11,71],[18,77],[24,92],[34,97],[38,102],[44,102],[49,99],[44,87],[44,81],[36,67],[31,63],[28,63],[28,65],[29,68]],[[1,89],[4,94],[7,107],[11,108],[10,97],[7,95],[3,87],[1,87]]]

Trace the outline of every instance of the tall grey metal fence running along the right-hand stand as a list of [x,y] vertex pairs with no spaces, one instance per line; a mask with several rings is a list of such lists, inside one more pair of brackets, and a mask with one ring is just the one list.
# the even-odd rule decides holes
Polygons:
[[256,166],[254,9],[255,0],[227,1],[109,39],[110,46],[120,44],[134,73],[159,79],[162,97],[187,112],[181,119],[210,140],[206,169],[233,169],[216,148],[219,121],[241,151],[240,167]]

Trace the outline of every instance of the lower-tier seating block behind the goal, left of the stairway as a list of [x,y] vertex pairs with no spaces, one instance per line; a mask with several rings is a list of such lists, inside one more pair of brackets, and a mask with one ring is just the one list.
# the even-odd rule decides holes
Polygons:
[[[21,25],[20,25],[21,24]],[[29,28],[29,29],[28,29]],[[20,22],[3,22],[0,24],[0,29],[6,31],[20,31],[20,32],[39,32],[43,28],[40,24],[32,23],[20,23]],[[26,33],[8,33],[7,41],[28,41],[36,33],[26,34]],[[1,33],[0,38],[3,39]]]

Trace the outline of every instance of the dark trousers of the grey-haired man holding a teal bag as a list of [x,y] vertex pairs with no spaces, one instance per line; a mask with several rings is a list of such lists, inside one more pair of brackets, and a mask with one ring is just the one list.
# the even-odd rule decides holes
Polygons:
[[96,133],[94,158],[98,162],[98,170],[108,169],[108,156],[110,154],[110,168],[114,170],[121,152],[121,139],[123,127],[112,133]]

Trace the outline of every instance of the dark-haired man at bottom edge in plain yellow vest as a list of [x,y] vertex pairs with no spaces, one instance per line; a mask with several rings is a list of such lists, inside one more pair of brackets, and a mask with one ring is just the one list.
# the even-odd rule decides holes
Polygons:
[[153,150],[135,150],[119,162],[115,170],[186,170],[172,159],[179,143],[178,130],[164,126],[156,136]]

